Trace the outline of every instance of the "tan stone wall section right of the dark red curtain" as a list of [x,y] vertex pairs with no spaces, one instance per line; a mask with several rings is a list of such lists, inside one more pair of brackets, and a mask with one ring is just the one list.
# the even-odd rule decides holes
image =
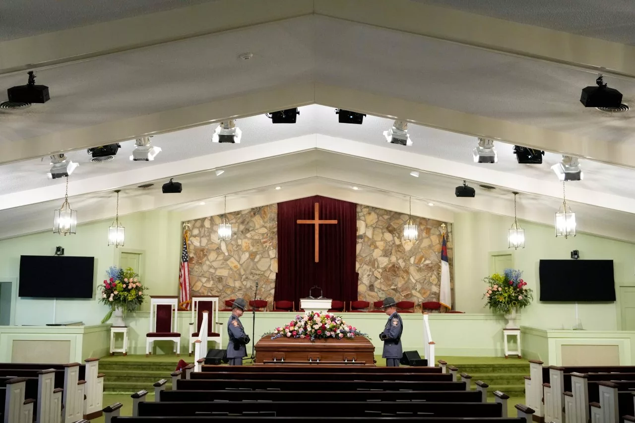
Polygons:
[[[358,297],[374,302],[385,297],[415,304],[439,300],[441,282],[441,223],[413,217],[417,241],[403,240],[408,215],[370,206],[357,206]],[[448,224],[450,286],[454,286],[452,225]]]

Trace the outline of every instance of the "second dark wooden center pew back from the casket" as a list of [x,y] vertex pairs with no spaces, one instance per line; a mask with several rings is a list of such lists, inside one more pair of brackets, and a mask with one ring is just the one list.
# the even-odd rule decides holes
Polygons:
[[444,373],[312,373],[312,372],[194,372],[190,379],[250,379],[250,380],[427,380],[451,381],[452,375]]

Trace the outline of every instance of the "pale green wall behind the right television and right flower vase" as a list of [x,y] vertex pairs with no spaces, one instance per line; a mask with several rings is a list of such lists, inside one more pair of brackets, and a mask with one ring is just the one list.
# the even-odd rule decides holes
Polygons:
[[[490,252],[507,249],[507,230],[513,220],[490,213],[455,214],[455,295],[457,309],[465,312],[487,312],[483,308],[481,279],[489,271]],[[534,301],[521,312],[521,323],[538,328],[572,328],[575,304],[540,302],[538,262],[541,258],[569,259],[579,250],[584,259],[610,259],[615,263],[615,287],[634,286],[635,245],[624,241],[580,233],[575,238],[556,238],[551,226],[521,222],[525,228],[526,248],[511,250],[514,267],[523,271],[523,279],[534,290]],[[572,287],[572,289],[575,289]],[[617,330],[620,328],[619,299],[615,303],[580,303],[578,315],[585,330]]]

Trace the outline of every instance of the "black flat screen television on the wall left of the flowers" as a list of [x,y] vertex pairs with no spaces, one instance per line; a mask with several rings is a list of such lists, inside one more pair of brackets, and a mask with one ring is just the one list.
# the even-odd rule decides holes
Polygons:
[[95,257],[20,256],[18,295],[35,298],[92,298]]

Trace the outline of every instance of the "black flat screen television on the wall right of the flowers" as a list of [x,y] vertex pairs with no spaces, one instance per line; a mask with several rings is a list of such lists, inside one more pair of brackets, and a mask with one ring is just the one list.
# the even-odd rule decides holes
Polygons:
[[613,260],[540,260],[540,301],[615,301]]

